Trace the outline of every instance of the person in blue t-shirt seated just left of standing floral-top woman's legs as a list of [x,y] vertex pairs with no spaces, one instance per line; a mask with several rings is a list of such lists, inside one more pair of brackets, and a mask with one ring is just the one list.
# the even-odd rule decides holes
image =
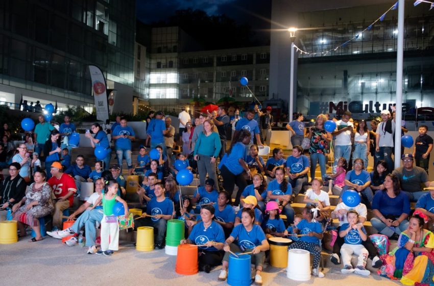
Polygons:
[[300,194],[303,184],[308,182],[307,173],[310,170],[310,160],[303,155],[301,146],[293,147],[293,154],[286,158],[286,174],[293,187],[293,198]]

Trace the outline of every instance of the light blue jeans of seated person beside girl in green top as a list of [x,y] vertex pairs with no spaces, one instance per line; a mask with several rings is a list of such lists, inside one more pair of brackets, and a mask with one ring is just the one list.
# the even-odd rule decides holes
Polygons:
[[95,224],[101,222],[103,219],[103,213],[99,209],[85,210],[77,221],[71,226],[71,229],[75,233],[80,233],[80,230],[84,227],[86,235],[86,246],[95,245],[95,239],[97,238],[97,229]]

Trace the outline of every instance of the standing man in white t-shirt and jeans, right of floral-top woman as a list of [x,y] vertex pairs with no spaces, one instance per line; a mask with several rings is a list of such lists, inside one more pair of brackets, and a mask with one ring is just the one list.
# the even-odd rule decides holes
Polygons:
[[336,130],[331,134],[336,136],[334,141],[334,162],[333,171],[336,170],[337,161],[344,157],[347,162],[350,161],[352,138],[354,137],[354,125],[349,122],[351,112],[345,111],[342,119],[336,122]]

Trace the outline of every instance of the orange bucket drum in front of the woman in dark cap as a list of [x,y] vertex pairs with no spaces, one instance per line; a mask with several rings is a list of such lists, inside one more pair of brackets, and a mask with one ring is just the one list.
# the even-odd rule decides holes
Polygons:
[[199,272],[197,246],[193,244],[178,245],[175,271],[183,275],[193,275]]

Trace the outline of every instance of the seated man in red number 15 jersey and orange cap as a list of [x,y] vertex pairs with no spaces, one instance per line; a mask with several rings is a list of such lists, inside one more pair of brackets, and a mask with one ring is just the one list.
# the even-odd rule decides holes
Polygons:
[[47,183],[52,187],[56,197],[53,214],[53,230],[55,231],[62,229],[62,213],[65,209],[73,206],[77,186],[73,177],[63,173],[60,162],[53,162],[50,172],[53,177]]

